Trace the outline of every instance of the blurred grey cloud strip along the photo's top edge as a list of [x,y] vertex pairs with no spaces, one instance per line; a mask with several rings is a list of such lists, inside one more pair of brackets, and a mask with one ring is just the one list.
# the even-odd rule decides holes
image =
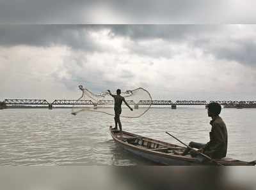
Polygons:
[[[0,2],[0,23],[253,23],[252,0],[20,0]],[[245,14],[246,13],[246,14]]]

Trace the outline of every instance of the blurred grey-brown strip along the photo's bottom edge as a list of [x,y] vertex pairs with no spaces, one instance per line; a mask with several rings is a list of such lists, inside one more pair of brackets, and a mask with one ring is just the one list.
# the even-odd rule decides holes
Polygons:
[[[254,190],[252,167],[2,167],[1,189]],[[11,180],[10,180],[11,179]]]

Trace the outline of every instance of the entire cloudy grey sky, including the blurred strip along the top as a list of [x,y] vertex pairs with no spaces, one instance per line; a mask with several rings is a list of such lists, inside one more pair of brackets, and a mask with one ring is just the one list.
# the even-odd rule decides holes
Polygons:
[[255,100],[253,1],[69,2],[0,2],[0,101],[77,99],[80,84],[173,101]]

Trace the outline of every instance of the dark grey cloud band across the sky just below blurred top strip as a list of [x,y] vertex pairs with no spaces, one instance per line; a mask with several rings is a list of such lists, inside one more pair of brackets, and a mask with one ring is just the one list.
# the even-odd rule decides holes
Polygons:
[[[90,36],[91,32],[103,29],[109,30],[109,38],[129,38],[131,43],[124,43],[124,47],[139,56],[170,59],[179,53],[170,47],[185,44],[191,49],[198,48],[205,54],[214,55],[216,59],[255,65],[253,33],[246,38],[230,37],[230,33],[239,36],[248,29],[256,31],[253,25],[244,25],[244,29],[237,32],[236,26],[225,25],[0,25],[0,45],[65,45],[86,52],[108,52],[108,47],[100,45],[100,38],[95,41]],[[152,40],[160,42],[155,45]],[[143,41],[148,41],[147,45]]]

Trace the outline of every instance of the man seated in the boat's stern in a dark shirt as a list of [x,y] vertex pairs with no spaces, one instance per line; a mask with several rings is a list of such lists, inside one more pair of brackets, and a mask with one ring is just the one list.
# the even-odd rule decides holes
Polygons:
[[[227,154],[227,145],[228,145],[228,136],[227,128],[225,122],[219,116],[221,112],[221,105],[212,102],[208,106],[208,116],[212,118],[210,122],[212,129],[210,134],[210,141],[206,144],[190,142],[189,147],[199,149],[198,151],[206,154],[212,159],[221,159],[226,157]],[[184,150],[182,155],[190,153],[191,156],[195,156],[196,152],[187,148]]]

